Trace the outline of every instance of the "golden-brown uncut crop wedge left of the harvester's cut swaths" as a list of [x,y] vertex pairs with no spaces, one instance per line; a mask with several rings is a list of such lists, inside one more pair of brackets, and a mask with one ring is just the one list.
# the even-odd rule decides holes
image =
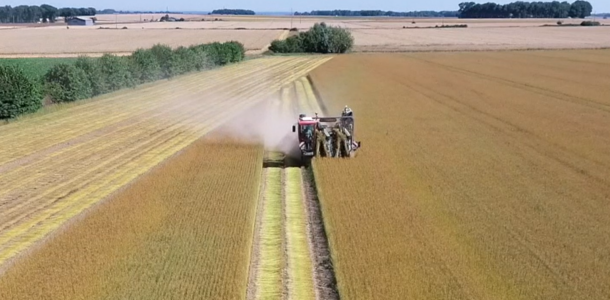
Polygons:
[[262,149],[187,147],[0,276],[1,299],[243,299]]

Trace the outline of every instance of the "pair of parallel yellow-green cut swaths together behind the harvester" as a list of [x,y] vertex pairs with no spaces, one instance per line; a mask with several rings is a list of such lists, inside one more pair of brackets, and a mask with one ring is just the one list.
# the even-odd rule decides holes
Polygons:
[[316,299],[301,169],[265,168],[262,188],[249,298]]

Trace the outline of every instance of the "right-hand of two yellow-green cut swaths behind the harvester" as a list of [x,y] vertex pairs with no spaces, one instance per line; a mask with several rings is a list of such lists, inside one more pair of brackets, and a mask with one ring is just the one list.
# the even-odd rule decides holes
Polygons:
[[288,298],[315,299],[301,169],[285,169]]

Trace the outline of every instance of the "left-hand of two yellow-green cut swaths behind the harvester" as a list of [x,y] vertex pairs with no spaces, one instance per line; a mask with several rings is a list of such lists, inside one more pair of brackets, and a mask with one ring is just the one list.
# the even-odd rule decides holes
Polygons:
[[267,168],[256,299],[282,296],[282,169]]

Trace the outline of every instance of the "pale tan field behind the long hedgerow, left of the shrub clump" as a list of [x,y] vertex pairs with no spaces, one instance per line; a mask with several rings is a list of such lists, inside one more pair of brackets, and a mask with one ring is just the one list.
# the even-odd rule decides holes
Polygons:
[[[0,54],[19,57],[49,54],[130,54],[138,48],[150,48],[155,44],[171,47],[190,46],[210,42],[236,40],[246,50],[261,50],[282,35],[283,30],[178,30],[174,24],[171,32],[158,30],[91,30],[66,29],[66,27],[20,28],[0,31]],[[121,27],[119,27],[121,28]],[[93,30],[95,29],[95,30]],[[48,40],[52,39],[53,43]]]

